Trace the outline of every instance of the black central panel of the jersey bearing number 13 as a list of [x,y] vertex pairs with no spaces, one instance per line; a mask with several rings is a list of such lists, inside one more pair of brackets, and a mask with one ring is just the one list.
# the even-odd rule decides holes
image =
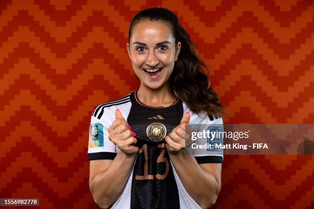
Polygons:
[[146,135],[153,122],[164,124],[168,135],[180,124],[182,101],[166,108],[141,105],[130,95],[132,107],[127,122],[136,133],[139,154],[136,157],[131,186],[131,208],[180,208],[178,188],[164,140],[154,142]]

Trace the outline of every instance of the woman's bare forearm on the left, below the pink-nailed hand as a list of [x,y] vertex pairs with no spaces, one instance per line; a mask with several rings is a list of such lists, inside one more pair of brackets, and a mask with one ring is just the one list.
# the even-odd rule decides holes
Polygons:
[[102,208],[110,207],[122,194],[128,181],[136,155],[118,153],[109,168],[97,174],[91,181],[95,202]]

